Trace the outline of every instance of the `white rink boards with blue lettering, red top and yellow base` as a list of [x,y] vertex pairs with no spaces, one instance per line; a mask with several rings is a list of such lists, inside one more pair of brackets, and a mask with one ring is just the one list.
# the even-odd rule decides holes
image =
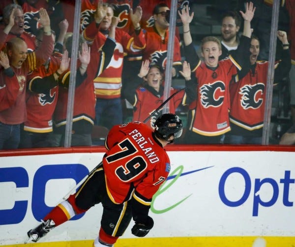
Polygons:
[[[169,178],[153,198],[155,225],[145,238],[131,234],[117,247],[295,245],[295,148],[173,146]],[[23,246],[62,197],[101,161],[102,148],[0,153],[0,245]],[[44,247],[92,246],[101,205],[40,240]],[[38,242],[39,243],[39,242]]]

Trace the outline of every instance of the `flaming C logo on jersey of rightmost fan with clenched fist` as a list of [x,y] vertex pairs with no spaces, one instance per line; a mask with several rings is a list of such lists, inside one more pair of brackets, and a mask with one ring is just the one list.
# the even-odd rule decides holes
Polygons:
[[262,95],[264,94],[264,89],[265,85],[263,83],[257,83],[255,85],[245,85],[240,88],[240,103],[243,109],[247,110],[249,108],[259,108],[263,103]]

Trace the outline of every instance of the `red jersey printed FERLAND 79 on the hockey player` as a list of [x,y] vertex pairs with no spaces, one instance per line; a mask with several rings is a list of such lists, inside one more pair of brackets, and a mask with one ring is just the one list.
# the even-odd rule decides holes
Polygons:
[[166,180],[170,160],[162,145],[144,123],[115,125],[106,139],[103,158],[107,192],[114,203],[133,197],[150,205],[152,196]]

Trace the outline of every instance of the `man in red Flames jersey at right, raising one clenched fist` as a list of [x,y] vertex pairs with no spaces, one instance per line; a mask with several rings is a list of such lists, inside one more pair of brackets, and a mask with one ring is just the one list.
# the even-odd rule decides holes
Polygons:
[[[285,31],[278,31],[277,37],[282,42],[283,51],[282,60],[275,64],[275,82],[286,77],[291,68],[287,33]],[[250,70],[245,76],[241,76],[242,79],[237,83],[230,84],[231,131],[226,133],[224,143],[262,144],[269,62],[257,61],[259,51],[260,41],[258,37],[252,35]]]

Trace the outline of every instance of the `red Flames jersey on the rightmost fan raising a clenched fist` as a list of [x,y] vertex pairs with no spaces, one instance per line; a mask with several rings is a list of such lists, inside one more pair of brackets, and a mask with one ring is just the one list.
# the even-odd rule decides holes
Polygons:
[[[290,50],[282,51],[282,60],[275,63],[274,81],[286,77],[291,67]],[[230,84],[230,121],[233,134],[261,135],[264,125],[266,81],[269,63],[257,61],[238,83]],[[257,131],[255,131],[257,130]]]

